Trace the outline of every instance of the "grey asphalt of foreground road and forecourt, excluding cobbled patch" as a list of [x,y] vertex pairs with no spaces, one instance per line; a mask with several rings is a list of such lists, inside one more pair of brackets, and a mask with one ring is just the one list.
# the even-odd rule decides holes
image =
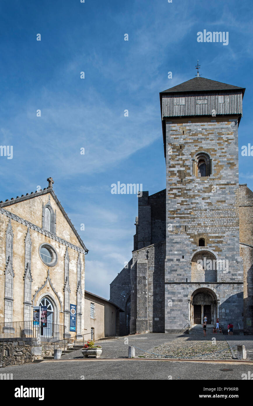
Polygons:
[[[242,375],[252,374],[253,337],[216,336],[229,345],[243,344],[247,360],[239,361],[168,361],[161,359],[129,359],[128,347],[136,346],[135,357],[143,351],[174,341],[185,334],[150,333],[131,335],[118,339],[97,341],[103,353],[99,359],[84,359],[81,350],[62,356],[59,361],[42,361],[14,365],[0,369],[1,374],[13,374],[13,380],[242,380]],[[203,340],[202,335],[187,335],[187,340]],[[212,339],[212,335],[206,338]],[[113,358],[113,359],[112,359]],[[231,384],[230,384],[231,386]]]

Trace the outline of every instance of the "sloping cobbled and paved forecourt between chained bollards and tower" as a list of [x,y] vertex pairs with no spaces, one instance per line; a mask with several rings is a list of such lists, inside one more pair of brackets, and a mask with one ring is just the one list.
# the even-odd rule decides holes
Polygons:
[[[215,338],[216,345],[213,344]],[[202,334],[163,334],[148,333],[140,335],[129,335],[118,339],[99,340],[97,344],[102,347],[101,358],[128,358],[128,347],[135,346],[135,357],[144,358],[181,358],[181,359],[232,359],[229,346],[244,344],[247,351],[247,359],[253,359],[253,337],[252,336],[227,336],[213,335],[212,333],[203,337]],[[227,348],[227,350],[225,350]],[[222,352],[217,352],[224,350]],[[148,352],[160,354],[155,356]],[[211,354],[209,354],[211,353]],[[205,354],[198,356],[199,354]],[[61,359],[83,358],[81,349],[63,355]]]

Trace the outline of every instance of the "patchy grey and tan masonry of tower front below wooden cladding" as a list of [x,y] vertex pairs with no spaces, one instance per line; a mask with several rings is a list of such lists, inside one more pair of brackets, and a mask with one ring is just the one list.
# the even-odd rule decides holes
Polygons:
[[[228,261],[228,269],[217,270],[217,289],[227,318],[231,315],[242,324],[238,125],[236,120],[226,119],[195,121],[166,123],[166,150],[170,148],[170,152],[166,156],[165,330],[182,328],[188,321],[187,303],[183,303],[192,290],[191,259],[202,250],[211,252],[217,260]],[[209,177],[193,175],[193,160],[199,152],[212,159]],[[205,238],[205,247],[198,246],[199,238]],[[210,289],[214,286],[210,283]],[[235,309],[231,296],[238,299]],[[170,308],[169,300],[175,303]]]

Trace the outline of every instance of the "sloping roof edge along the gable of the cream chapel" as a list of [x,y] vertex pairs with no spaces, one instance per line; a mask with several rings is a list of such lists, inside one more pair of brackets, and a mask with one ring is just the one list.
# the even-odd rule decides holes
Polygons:
[[[21,201],[24,200],[28,200],[28,199],[33,199],[34,197],[37,196],[42,196],[43,194],[47,194],[47,193],[51,193],[52,197],[54,198],[54,200],[56,201],[56,204],[58,205],[60,211],[62,212],[63,216],[66,218],[66,221],[69,223],[71,229],[73,230],[75,236],[77,237],[77,240],[79,241],[79,243],[81,244],[81,246],[84,248],[84,250],[86,251],[86,253],[88,253],[88,249],[86,248],[86,246],[84,245],[83,240],[81,239],[80,235],[77,233],[77,230],[75,229],[74,225],[72,224],[70,218],[68,217],[68,215],[66,214],[64,207],[62,207],[60,201],[58,200],[58,197],[56,196],[56,194],[54,193],[54,190],[52,187],[48,187],[48,188],[44,188],[43,190],[41,189],[39,192],[31,192],[26,193],[26,195],[24,196],[24,194],[21,195],[21,197],[17,196],[15,199],[12,197],[10,200],[6,199],[5,202],[3,202],[2,200],[0,201],[0,207],[10,207],[11,205],[15,204],[15,203],[19,203]],[[7,209],[6,209],[7,210]]]

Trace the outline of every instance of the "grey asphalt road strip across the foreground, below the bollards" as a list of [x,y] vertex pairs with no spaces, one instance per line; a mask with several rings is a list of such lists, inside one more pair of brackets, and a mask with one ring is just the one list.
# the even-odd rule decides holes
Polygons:
[[[13,380],[242,380],[253,363],[147,359],[43,361],[1,368]],[[22,383],[23,384],[23,383]],[[230,386],[233,386],[230,384]]]

